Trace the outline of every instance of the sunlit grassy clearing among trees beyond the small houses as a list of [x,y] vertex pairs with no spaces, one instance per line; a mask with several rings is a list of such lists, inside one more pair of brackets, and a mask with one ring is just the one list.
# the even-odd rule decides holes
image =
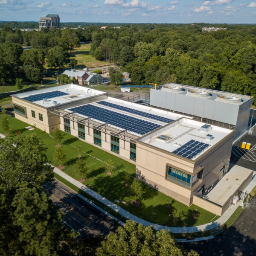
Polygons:
[[91,44],[81,44],[81,47],[75,48],[72,53],[71,57],[76,58],[78,61],[77,69],[82,69],[84,67],[91,68],[91,67],[99,67],[104,65],[109,65],[109,62],[105,61],[97,61],[92,55],[90,55],[90,47]]

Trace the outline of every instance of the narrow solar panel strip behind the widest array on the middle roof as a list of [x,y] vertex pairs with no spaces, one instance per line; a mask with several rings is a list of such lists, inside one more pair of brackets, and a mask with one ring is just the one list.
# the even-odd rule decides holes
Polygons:
[[169,119],[169,118],[166,118],[166,117],[163,117],[163,116],[157,116],[157,115],[146,113],[146,112],[136,110],[136,109],[133,109],[133,108],[123,107],[123,106],[113,104],[113,103],[110,103],[110,102],[100,101],[100,102],[97,102],[97,103],[99,103],[101,105],[104,105],[104,106],[111,107],[111,108],[119,109],[119,110],[122,110],[122,111],[125,111],[125,112],[129,112],[129,113],[132,113],[132,114],[135,114],[135,115],[138,115],[138,116],[144,116],[144,117],[147,117],[147,118],[150,118],[150,119],[154,119],[154,120],[157,120],[157,121],[160,121],[160,122],[169,123],[169,122],[174,121],[173,119]]

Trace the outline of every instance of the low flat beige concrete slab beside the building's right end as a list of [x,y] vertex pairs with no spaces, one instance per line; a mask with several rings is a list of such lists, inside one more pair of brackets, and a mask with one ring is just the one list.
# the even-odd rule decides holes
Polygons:
[[252,170],[242,166],[233,166],[230,171],[222,177],[216,186],[207,194],[209,201],[215,204],[224,205],[227,200],[241,186]]

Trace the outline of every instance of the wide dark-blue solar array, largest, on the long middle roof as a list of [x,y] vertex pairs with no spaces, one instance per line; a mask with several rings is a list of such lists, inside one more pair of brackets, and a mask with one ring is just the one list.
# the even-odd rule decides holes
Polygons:
[[161,125],[110,111],[108,109],[100,108],[91,104],[70,108],[69,110],[84,116],[90,116],[91,118],[115,125],[122,129],[127,129],[128,131],[133,131],[140,135],[154,131],[155,129],[161,127]]

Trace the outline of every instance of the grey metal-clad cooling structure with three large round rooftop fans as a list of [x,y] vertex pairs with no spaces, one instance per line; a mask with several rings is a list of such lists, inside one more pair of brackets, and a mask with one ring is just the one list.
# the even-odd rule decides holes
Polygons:
[[247,132],[253,97],[182,84],[151,89],[150,105],[192,116],[195,120],[235,129],[234,140]]

